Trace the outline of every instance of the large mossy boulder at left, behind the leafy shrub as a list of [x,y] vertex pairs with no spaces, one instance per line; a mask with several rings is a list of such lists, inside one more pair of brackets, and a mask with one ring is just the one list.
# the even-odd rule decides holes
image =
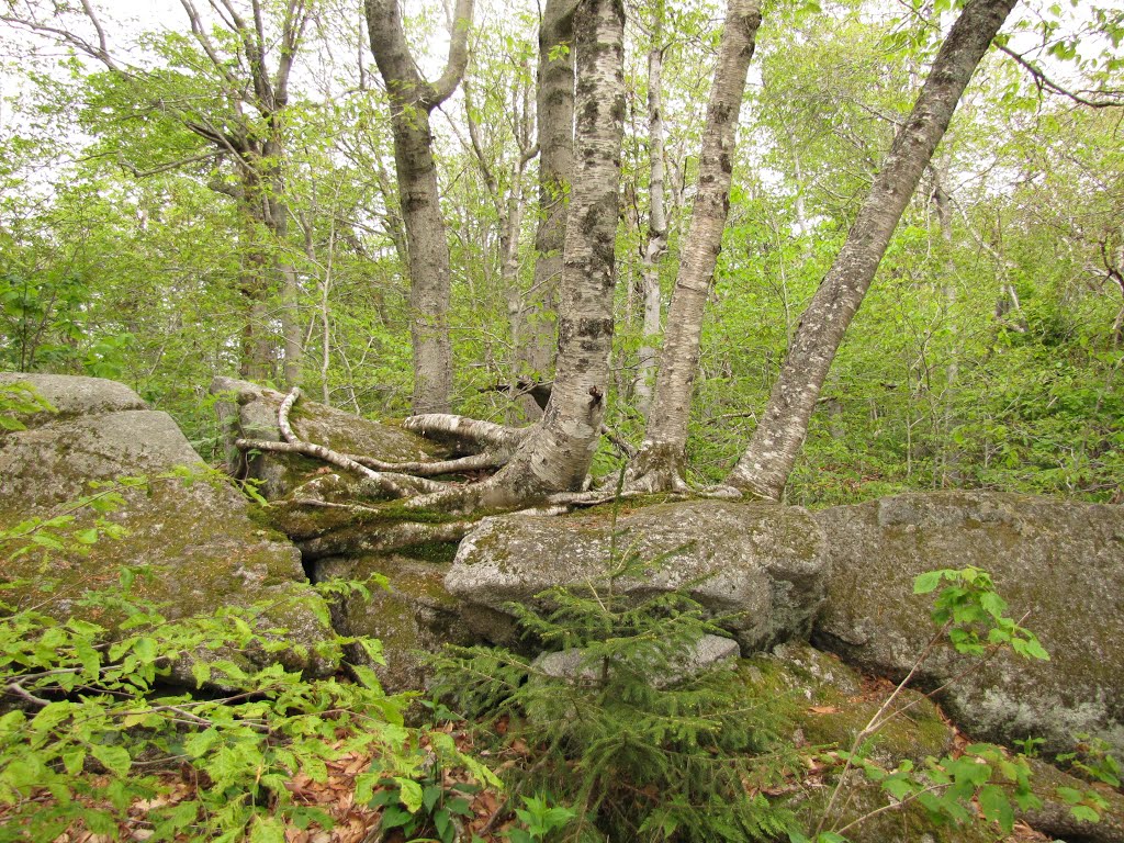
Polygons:
[[[146,409],[136,393],[112,381],[0,375],[0,382],[12,380],[30,382],[61,411],[34,414],[22,419],[28,429],[0,435],[0,526],[57,514],[88,495],[91,481],[143,475],[149,486],[126,491],[124,506],[109,516],[126,528],[124,538],[103,538],[88,555],[30,554],[7,565],[0,577],[27,580],[10,597],[43,602],[44,610],[64,617],[85,590],[116,581],[120,565],[144,565],[154,575],[138,579],[137,591],[166,604],[163,614],[172,619],[224,606],[268,605],[262,623],[285,628],[290,646],[272,655],[238,654],[244,661],[334,670],[338,653],[320,619],[327,607],[308,584],[299,551],[252,520],[247,501],[228,483],[158,477],[181,465],[206,469],[170,416]],[[92,517],[83,510],[78,523]],[[49,593],[43,590],[48,580],[57,582]],[[193,683],[187,663],[175,678]]]

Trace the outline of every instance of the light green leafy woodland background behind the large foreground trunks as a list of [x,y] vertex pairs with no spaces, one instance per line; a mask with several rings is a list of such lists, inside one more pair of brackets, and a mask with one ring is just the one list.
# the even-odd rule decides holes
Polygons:
[[[247,29],[223,0],[170,3],[158,25],[108,3],[93,17],[87,3],[47,6],[0,4],[0,371],[124,381],[211,457],[208,384],[246,372],[250,326],[259,380],[363,415],[408,415],[407,246],[363,11],[254,2]],[[695,387],[695,479],[723,478],[749,441],[951,7],[765,6]],[[453,11],[406,12],[418,66],[436,78]],[[533,405],[510,397],[520,381],[551,379],[528,351],[553,324],[535,275],[538,17],[478,8],[464,79],[429,117],[452,266],[453,409],[504,423],[533,420]],[[606,420],[634,443],[660,335],[645,268],[665,310],[722,18],[705,0],[627,7]],[[1122,501],[1124,12],[1028,3],[1005,33],[846,335],[790,502],[950,487]],[[653,51],[662,144],[649,114]],[[254,151],[257,182],[232,137]],[[246,212],[252,184],[272,216]],[[653,196],[665,226],[653,224]],[[617,459],[606,447],[597,469]]]

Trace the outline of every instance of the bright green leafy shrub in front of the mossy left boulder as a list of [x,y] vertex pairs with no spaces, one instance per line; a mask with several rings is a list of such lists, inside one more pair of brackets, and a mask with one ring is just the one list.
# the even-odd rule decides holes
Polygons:
[[[119,536],[120,527],[100,518],[78,529],[74,516],[83,508],[108,513],[123,490],[144,483],[119,480],[61,515],[0,531],[0,559],[42,553],[46,565],[52,553]],[[0,841],[53,840],[69,828],[118,839],[135,824],[129,809],[139,801],[148,806],[149,840],[280,841],[285,824],[330,827],[327,814],[294,801],[285,785],[298,772],[325,781],[325,762],[347,752],[374,754],[380,776],[402,782],[408,801],[418,787],[413,779],[427,774],[428,756],[404,725],[407,698],[388,697],[362,665],[347,682],[307,679],[281,663],[254,667],[241,655],[280,660],[291,645],[266,615],[283,616],[284,599],[302,596],[170,620],[134,591],[139,578],[152,575],[126,568],[115,584],[60,593],[66,611],[51,599],[16,605],[4,591],[19,583],[0,587]],[[371,640],[336,636],[323,646],[336,652],[346,644],[381,660]],[[170,687],[172,672],[189,672],[199,691]],[[460,759],[495,782],[442,738],[429,744],[443,759]],[[176,765],[191,771],[188,796],[154,774]],[[423,804],[426,798],[422,791]]]

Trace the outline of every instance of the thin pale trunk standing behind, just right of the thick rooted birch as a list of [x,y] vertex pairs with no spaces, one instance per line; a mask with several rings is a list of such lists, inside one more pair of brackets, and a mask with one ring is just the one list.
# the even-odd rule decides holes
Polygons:
[[647,237],[641,278],[644,289],[643,341],[637,355],[634,392],[641,413],[652,409],[652,379],[659,350],[662,307],[660,301],[660,259],[668,251],[668,215],[664,211],[663,182],[663,1],[655,7],[652,46],[647,53],[647,149],[651,162],[649,181]]

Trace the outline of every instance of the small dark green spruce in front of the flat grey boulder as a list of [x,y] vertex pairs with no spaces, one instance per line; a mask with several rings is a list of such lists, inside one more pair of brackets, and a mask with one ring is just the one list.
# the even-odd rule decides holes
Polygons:
[[[690,583],[638,599],[619,593],[625,578],[668,563],[624,554],[587,588],[541,595],[547,608],[511,607],[528,636],[580,652],[572,676],[501,649],[451,650],[437,661],[438,692],[469,717],[510,718],[537,747],[516,787],[569,806],[562,839],[768,840],[790,824],[761,794],[796,763],[780,737],[783,700],[745,699],[732,670],[668,679],[716,628],[687,595]],[[517,815],[527,826],[520,840],[562,823],[545,808],[532,823],[538,807]]]

